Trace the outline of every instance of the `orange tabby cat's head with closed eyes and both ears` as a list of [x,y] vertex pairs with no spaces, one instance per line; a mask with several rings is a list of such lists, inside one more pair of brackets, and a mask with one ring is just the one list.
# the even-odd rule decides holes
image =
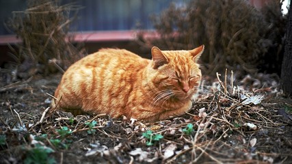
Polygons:
[[157,92],[178,99],[193,96],[202,77],[197,61],[203,51],[204,45],[190,51],[161,51],[154,46],[150,69]]

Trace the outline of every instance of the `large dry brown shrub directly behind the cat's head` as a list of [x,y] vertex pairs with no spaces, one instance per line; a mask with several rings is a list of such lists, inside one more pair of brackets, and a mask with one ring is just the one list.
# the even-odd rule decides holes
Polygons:
[[194,49],[205,44],[202,69],[210,74],[225,68],[254,73],[272,44],[266,38],[271,29],[265,16],[243,0],[192,0],[183,7],[172,4],[153,16],[153,22],[161,38],[142,38],[148,42],[144,45]]

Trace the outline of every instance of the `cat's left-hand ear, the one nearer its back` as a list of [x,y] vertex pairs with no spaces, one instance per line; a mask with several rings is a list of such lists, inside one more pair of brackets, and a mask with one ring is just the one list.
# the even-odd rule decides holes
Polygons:
[[159,68],[160,66],[163,66],[164,64],[168,64],[168,58],[165,57],[165,55],[161,52],[158,47],[153,46],[151,49],[152,54],[152,60],[154,62],[154,69]]

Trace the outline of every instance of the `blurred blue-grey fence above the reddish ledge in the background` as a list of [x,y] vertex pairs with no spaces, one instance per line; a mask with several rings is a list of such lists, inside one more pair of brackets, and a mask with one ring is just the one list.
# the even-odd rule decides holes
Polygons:
[[[62,0],[61,5],[72,3],[82,9],[71,25],[73,31],[109,31],[152,29],[150,16],[159,14],[170,3],[184,5],[188,0]],[[12,17],[12,11],[25,10],[23,0],[0,0],[0,35],[12,34],[4,23]],[[73,14],[73,13],[72,13]]]

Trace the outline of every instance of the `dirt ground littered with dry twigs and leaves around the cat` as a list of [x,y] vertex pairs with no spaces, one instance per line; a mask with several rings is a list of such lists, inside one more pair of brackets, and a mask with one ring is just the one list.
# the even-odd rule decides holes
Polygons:
[[204,77],[191,111],[150,123],[48,108],[60,79],[2,73],[0,163],[292,163],[292,100],[269,78],[232,93]]

